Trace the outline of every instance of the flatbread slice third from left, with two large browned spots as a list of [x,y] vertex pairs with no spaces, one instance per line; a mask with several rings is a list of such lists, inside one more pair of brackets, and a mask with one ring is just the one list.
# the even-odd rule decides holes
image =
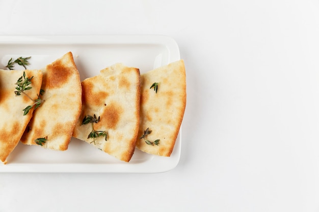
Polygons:
[[[135,151],[139,129],[139,69],[115,64],[101,70],[99,75],[85,79],[82,88],[82,113],[73,137],[129,162]],[[100,119],[97,123],[82,125],[88,115]],[[96,139],[88,138],[92,125],[95,131],[105,134]]]

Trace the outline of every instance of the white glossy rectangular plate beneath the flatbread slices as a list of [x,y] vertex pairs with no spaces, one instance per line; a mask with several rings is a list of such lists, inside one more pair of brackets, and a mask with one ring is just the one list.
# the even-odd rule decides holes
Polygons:
[[[115,63],[139,68],[142,74],[180,58],[176,42],[166,36],[0,36],[0,49],[0,69],[20,56],[32,56],[29,69],[42,69],[71,51],[81,80]],[[64,152],[19,143],[8,163],[0,164],[0,172],[164,172],[179,162],[180,134],[171,157],[136,149],[128,163],[75,138]]]

